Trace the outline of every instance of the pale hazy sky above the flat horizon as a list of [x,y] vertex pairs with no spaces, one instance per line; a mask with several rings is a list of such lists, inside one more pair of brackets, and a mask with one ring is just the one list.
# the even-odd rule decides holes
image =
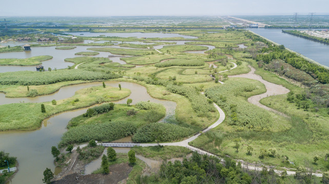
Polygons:
[[2,0],[0,16],[329,14],[328,0]]

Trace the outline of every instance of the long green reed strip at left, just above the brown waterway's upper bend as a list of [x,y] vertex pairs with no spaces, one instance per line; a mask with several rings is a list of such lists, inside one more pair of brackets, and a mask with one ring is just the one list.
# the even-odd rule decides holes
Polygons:
[[76,80],[108,80],[119,78],[119,74],[83,70],[52,70],[51,72],[6,72],[0,74],[2,85],[47,85]]

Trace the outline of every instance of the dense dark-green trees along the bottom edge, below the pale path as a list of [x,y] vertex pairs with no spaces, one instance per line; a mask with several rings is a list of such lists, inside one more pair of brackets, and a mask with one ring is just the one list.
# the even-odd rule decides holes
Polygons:
[[[176,160],[174,163],[163,163],[156,175],[141,177],[137,183],[319,183],[315,176],[287,177],[286,171],[279,176],[273,169],[261,171],[244,169],[241,163],[225,157],[224,162],[217,157],[209,157],[193,152],[183,162]],[[326,180],[324,180],[326,181]]]

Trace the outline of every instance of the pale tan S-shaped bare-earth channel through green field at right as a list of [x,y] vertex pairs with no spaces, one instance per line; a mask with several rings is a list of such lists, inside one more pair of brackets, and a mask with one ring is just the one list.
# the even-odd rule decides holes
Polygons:
[[240,74],[240,75],[235,75],[235,76],[229,76],[230,78],[236,78],[236,77],[241,77],[241,78],[248,78],[248,79],[254,79],[254,80],[258,80],[261,83],[263,83],[266,87],[266,93],[260,94],[260,95],[255,95],[252,97],[248,98],[248,102],[255,104],[265,110],[269,110],[272,112],[276,112],[278,114],[280,114],[281,116],[287,117],[284,113],[279,112],[277,110],[274,110],[272,108],[269,108],[263,104],[261,104],[259,101],[263,98],[269,97],[269,96],[274,96],[274,95],[283,95],[283,94],[287,94],[289,93],[289,89],[283,87],[282,85],[278,85],[278,84],[274,84],[274,83],[270,83],[268,81],[265,81],[264,79],[262,79],[261,76],[255,74],[255,68],[249,66],[251,68],[251,71],[247,74]]

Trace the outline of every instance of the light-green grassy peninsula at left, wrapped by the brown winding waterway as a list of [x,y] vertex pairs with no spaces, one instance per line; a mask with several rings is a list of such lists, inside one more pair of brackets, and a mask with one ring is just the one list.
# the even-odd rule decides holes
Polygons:
[[[42,103],[16,103],[0,106],[0,130],[33,130],[40,127],[42,120],[53,114],[88,107],[96,103],[116,101],[130,95],[129,89],[95,86],[76,91],[71,98],[58,100],[57,105],[45,102],[46,113],[41,112]],[[75,99],[79,99],[75,102]],[[29,110],[26,110],[29,109]]]

